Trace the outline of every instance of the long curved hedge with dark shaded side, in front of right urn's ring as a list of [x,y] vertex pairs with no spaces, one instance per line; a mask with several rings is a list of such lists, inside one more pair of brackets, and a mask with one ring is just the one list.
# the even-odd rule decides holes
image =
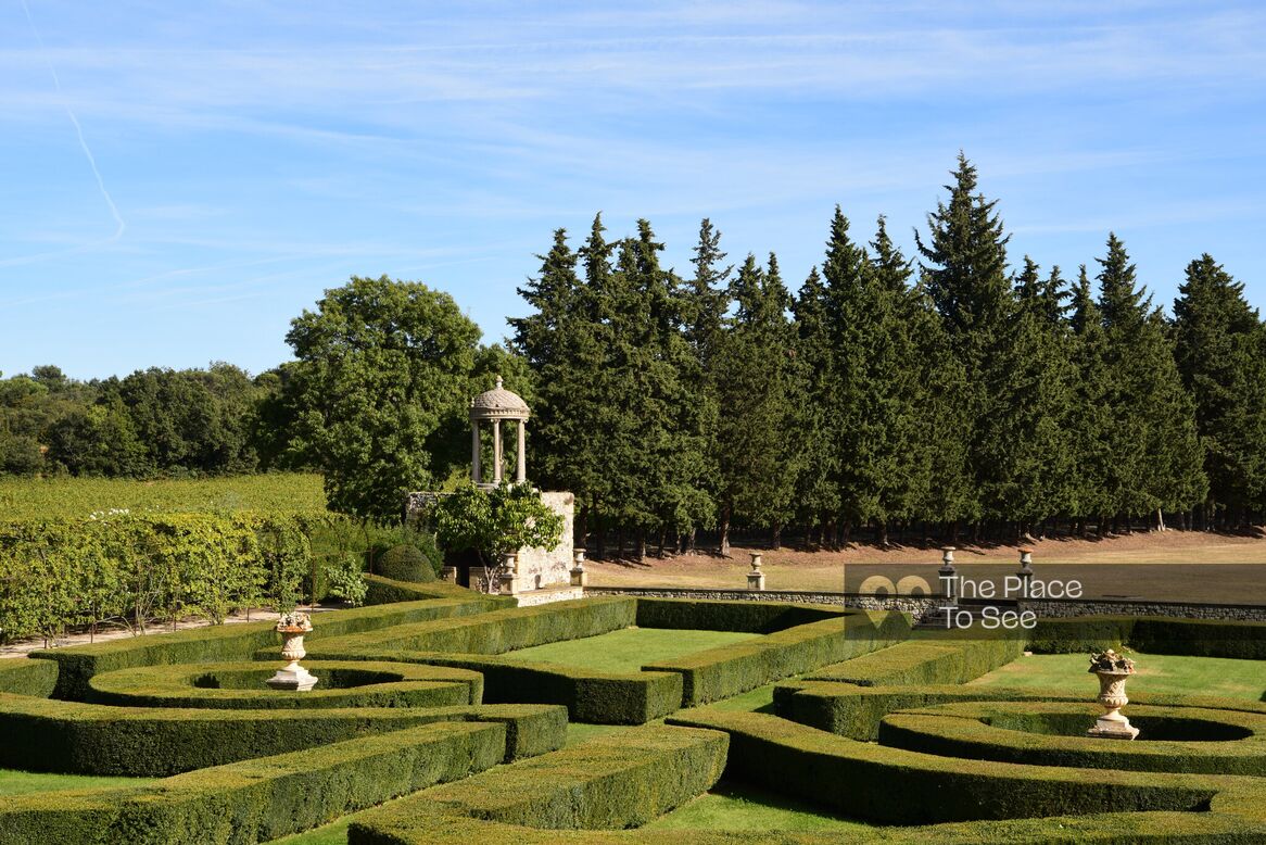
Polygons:
[[881,823],[929,823],[1208,807],[1255,778],[1061,769],[884,747],[765,713],[700,708],[671,725],[730,736],[727,777]]

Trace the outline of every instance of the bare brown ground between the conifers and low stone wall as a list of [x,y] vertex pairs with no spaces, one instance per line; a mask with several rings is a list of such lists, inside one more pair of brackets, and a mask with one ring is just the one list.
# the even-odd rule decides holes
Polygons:
[[[1028,543],[1034,578],[1048,584],[1076,580],[1082,598],[1266,604],[1266,535],[1165,531],[1103,540],[1056,538]],[[647,557],[644,562],[589,561],[595,587],[746,588],[749,552],[760,551],[766,589],[856,592],[871,575],[898,581],[919,575],[937,587],[941,550],[934,545],[853,545],[841,551],[734,547],[730,557],[696,552]],[[1018,569],[1018,546],[961,545],[960,575],[994,580],[999,589]]]

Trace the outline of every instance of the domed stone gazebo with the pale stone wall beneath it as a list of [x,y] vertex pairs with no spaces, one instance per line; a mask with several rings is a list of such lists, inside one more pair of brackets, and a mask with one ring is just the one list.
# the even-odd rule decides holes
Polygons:
[[[477,486],[491,489],[509,480],[505,455],[506,435],[509,432],[503,429],[503,423],[513,423],[514,426],[514,483],[527,483],[527,423],[530,416],[532,412],[528,408],[528,403],[519,394],[506,390],[500,376],[496,379],[495,388],[471,399],[471,480]],[[491,431],[492,436],[491,467],[485,467],[482,460],[484,435],[487,431]],[[434,495],[425,493],[410,494],[405,505],[406,517],[417,513]],[[541,493],[541,500],[563,518],[562,538],[553,549],[519,549],[515,555],[513,576],[503,581],[504,592],[525,594],[534,590],[558,590],[571,587],[572,522],[576,498],[571,493]],[[471,587],[482,575],[479,566],[471,568]],[[456,575],[456,571],[453,575]],[[561,595],[560,598],[572,597]],[[520,603],[523,600],[524,598],[520,598]]]

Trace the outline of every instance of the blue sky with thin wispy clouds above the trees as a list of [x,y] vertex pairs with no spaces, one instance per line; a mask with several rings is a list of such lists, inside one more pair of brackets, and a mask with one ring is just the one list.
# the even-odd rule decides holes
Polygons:
[[0,371],[258,372],[353,274],[496,341],[599,210],[799,286],[837,203],[912,251],[960,148],[1013,264],[1112,229],[1157,304],[1209,252],[1266,307],[1263,82],[1252,1],[3,0]]

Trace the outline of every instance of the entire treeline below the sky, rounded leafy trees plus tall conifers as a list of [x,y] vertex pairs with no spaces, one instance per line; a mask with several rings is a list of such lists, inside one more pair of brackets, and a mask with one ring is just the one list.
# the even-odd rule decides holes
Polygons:
[[1266,328],[1210,256],[1172,317],[1125,246],[1071,271],[1013,264],[960,157],[901,253],[842,210],[793,294],[770,253],[693,270],[651,224],[562,229],[520,294],[510,348],[448,294],[353,277],[286,336],[295,360],[76,383],[0,380],[0,469],[75,475],[320,469],[330,507],[379,522],[468,475],[470,398],[505,376],[532,405],[529,478],[577,497],[577,535],[689,546],[700,530],[794,527],[1010,538],[1236,528],[1266,511]]

